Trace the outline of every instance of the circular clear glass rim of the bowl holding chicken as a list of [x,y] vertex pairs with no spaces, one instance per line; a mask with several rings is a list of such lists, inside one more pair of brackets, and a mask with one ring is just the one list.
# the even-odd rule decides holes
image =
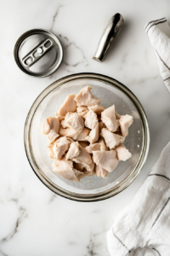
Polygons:
[[[140,155],[140,158],[136,164],[136,166],[133,168],[133,171],[131,171],[128,176],[122,180],[121,183],[117,184],[114,189],[108,189],[104,193],[99,193],[98,195],[77,195],[76,193],[69,193],[65,189],[59,189],[56,188],[55,184],[51,182],[48,177],[42,172],[42,170],[37,166],[37,162],[34,160],[31,150],[31,121],[34,117],[34,114],[37,111],[37,108],[39,104],[42,102],[42,100],[48,96],[48,94],[54,90],[55,88],[62,86],[62,84],[65,84],[66,82],[71,82],[72,80],[76,79],[94,79],[99,80],[102,82],[105,82],[107,84],[110,84],[111,86],[116,87],[119,90],[122,90],[133,102],[134,106],[137,108],[139,112],[139,116],[142,122],[142,128],[143,128],[143,153]],[[117,195],[118,193],[122,192],[124,189],[126,189],[131,183],[133,183],[134,179],[139,175],[139,172],[142,170],[144,163],[147,159],[149,148],[150,148],[150,129],[148,120],[146,117],[146,114],[144,112],[144,108],[142,107],[141,103],[139,102],[139,99],[133,94],[131,90],[127,88],[124,84],[120,83],[116,79],[112,79],[109,76],[105,76],[103,74],[99,73],[74,73],[69,76],[65,76],[61,79],[58,79],[54,81],[54,83],[48,85],[48,87],[45,90],[42,90],[42,92],[37,96],[37,99],[33,102],[31,105],[30,111],[27,114],[26,117],[26,123],[24,127],[24,145],[26,150],[26,157],[29,161],[32,170],[35,172],[37,177],[41,180],[41,182],[48,187],[48,189],[52,190],[55,194],[61,195],[67,199],[73,200],[73,201],[101,201],[105,200],[107,198],[110,198],[114,195]]]

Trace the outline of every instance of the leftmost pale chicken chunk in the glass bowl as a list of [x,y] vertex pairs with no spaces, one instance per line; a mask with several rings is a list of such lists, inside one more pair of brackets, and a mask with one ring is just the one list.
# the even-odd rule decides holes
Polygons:
[[59,120],[54,117],[49,117],[48,124],[50,127],[50,131],[48,132],[48,135],[47,135],[48,142],[53,143],[54,140],[57,137],[59,137],[59,128],[60,128]]

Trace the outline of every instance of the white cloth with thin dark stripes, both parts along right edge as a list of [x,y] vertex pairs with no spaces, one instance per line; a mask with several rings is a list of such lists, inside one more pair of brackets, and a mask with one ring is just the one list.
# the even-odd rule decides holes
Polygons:
[[[161,77],[170,90],[170,28],[165,18],[149,22],[145,31],[156,51]],[[170,143],[162,150],[133,201],[107,233],[111,256],[170,255]]]

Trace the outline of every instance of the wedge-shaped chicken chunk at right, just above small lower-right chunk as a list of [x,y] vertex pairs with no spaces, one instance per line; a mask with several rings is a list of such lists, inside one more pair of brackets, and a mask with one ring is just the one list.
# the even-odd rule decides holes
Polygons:
[[119,144],[123,143],[125,138],[115,134],[106,128],[103,128],[101,130],[101,136],[104,137],[106,146],[109,147],[110,149],[115,148]]

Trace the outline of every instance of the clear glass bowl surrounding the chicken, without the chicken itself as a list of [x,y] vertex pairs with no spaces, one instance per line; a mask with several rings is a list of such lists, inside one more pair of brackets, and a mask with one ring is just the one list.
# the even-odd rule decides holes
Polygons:
[[[54,160],[48,157],[48,142],[42,134],[42,120],[54,116],[66,96],[77,94],[87,85],[92,87],[94,96],[102,100],[101,105],[108,108],[115,104],[117,113],[133,116],[133,125],[124,143],[133,156],[125,162],[120,161],[106,178],[84,177],[77,183],[52,171]],[[138,176],[149,151],[150,132],[144,108],[126,86],[101,74],[77,73],[59,79],[37,97],[26,118],[24,139],[31,167],[48,189],[71,200],[99,201],[120,193]]]

